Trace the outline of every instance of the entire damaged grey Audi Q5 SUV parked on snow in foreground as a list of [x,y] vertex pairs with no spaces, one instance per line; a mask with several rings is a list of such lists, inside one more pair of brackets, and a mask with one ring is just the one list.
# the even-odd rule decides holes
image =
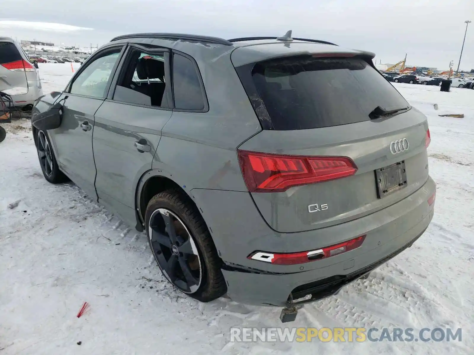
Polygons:
[[373,58],[291,32],[116,37],[36,102],[41,169],[146,231],[178,290],[292,320],[433,217],[427,118]]

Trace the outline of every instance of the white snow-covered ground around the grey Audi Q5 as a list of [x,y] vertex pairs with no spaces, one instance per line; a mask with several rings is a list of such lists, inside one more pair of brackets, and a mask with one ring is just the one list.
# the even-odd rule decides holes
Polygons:
[[[72,75],[65,64],[40,71],[45,93]],[[462,328],[461,342],[230,343],[232,326],[282,326],[281,310],[228,298],[200,303],[175,291],[144,234],[75,185],[46,182],[22,120],[4,125],[0,143],[0,355],[473,354],[474,90],[394,85],[428,116],[433,221],[368,279],[306,305],[284,326]],[[85,301],[90,309],[77,318]]]

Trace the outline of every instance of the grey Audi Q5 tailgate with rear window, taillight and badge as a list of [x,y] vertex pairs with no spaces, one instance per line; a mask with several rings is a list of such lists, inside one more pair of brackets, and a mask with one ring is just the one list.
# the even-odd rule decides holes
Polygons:
[[274,230],[354,220],[423,186],[426,117],[374,69],[371,56],[286,55],[236,67],[263,128],[239,147],[239,160]]

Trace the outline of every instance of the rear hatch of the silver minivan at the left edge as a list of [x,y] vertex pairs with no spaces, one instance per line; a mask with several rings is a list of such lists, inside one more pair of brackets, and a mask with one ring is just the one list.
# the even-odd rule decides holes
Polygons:
[[0,91],[9,95],[28,93],[27,71],[35,71],[13,42],[0,39]]

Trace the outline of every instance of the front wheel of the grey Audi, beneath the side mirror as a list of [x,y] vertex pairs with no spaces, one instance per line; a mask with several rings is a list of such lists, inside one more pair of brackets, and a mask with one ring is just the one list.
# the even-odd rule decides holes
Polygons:
[[54,151],[51,148],[51,142],[45,131],[38,130],[36,132],[35,144],[39,165],[46,181],[51,184],[60,184],[69,181],[69,178],[59,170]]

